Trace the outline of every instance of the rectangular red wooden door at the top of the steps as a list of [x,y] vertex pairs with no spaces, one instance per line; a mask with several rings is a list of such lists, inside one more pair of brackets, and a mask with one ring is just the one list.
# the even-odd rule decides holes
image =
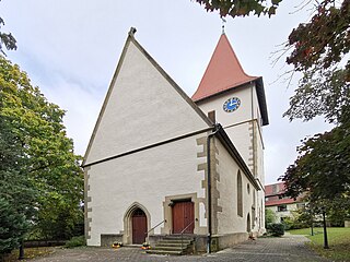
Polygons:
[[[180,234],[190,223],[195,221],[194,203],[190,201],[175,202],[173,205],[173,234]],[[194,234],[195,223],[184,233]]]

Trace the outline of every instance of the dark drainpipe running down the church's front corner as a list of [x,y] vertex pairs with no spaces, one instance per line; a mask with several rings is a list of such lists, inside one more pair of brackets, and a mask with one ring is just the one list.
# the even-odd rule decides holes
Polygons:
[[207,167],[208,167],[208,237],[207,237],[207,253],[211,253],[211,165],[210,165],[210,139],[219,131],[218,126],[214,126],[214,131],[207,138]]

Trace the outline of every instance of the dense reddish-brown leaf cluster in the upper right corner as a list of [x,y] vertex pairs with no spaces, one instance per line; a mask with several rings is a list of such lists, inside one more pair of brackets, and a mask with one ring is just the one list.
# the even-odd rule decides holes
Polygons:
[[[338,3],[339,2],[339,3]],[[336,66],[350,50],[350,1],[324,0],[316,3],[314,16],[289,36],[294,50],[287,59],[296,71],[326,70]],[[346,63],[350,81],[350,61]]]

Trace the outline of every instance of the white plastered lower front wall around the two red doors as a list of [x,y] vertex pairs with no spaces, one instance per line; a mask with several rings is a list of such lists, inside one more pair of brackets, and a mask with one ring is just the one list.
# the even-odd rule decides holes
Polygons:
[[[153,227],[164,219],[165,196],[196,193],[197,198],[205,198],[201,188],[205,174],[197,171],[197,165],[202,162],[197,153],[202,148],[196,139],[201,135],[92,166],[89,170],[91,238],[88,245],[100,246],[101,234],[120,234],[124,215],[133,202],[142,204],[151,214]],[[203,221],[203,217],[205,210],[200,209],[196,218]],[[159,227],[154,234],[160,233]]]

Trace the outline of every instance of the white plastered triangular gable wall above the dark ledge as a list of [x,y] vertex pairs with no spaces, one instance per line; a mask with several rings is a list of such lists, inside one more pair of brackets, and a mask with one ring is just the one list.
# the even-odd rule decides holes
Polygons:
[[208,128],[133,41],[126,47],[85,164]]

